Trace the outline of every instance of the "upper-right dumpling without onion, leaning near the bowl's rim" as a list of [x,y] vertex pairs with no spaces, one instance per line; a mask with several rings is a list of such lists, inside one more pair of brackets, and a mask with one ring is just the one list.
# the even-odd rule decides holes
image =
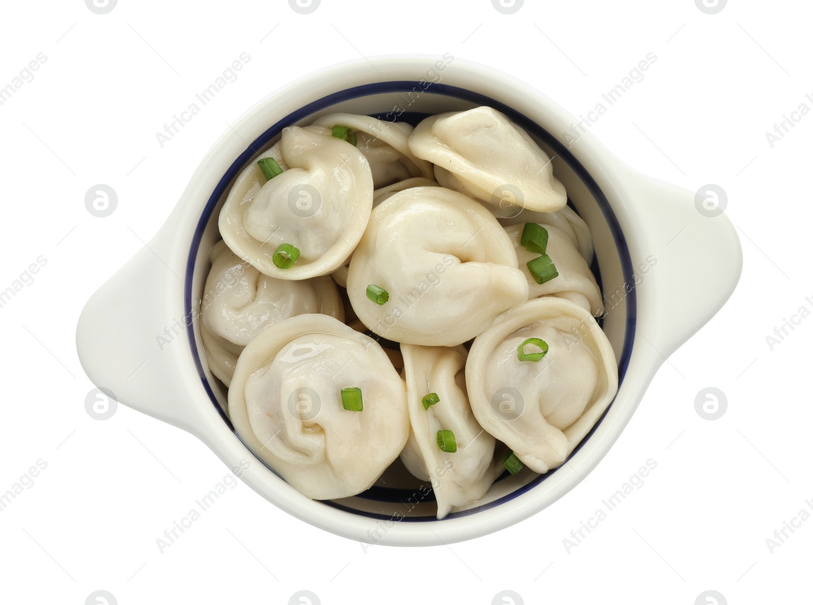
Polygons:
[[554,212],[567,204],[547,153],[491,107],[424,119],[409,146],[415,156],[435,164],[438,183],[487,204],[504,204],[506,188],[519,209]]

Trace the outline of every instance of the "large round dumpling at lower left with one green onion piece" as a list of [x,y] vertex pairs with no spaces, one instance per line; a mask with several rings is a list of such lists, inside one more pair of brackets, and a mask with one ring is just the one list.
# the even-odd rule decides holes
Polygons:
[[237,434],[313,499],[372,486],[409,436],[404,383],[376,341],[327,315],[257,336],[228,390]]

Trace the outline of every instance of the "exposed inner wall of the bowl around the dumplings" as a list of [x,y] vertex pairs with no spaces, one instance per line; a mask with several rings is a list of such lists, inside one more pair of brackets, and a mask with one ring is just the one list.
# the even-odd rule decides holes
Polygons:
[[[502,102],[471,90],[447,84],[434,84],[430,90],[424,90],[420,83],[411,81],[367,84],[309,103],[301,110],[280,119],[257,140],[246,145],[246,151],[239,157],[233,158],[232,165],[211,193],[198,223],[189,250],[185,279],[186,316],[196,318],[189,326],[189,343],[198,374],[211,398],[211,404],[218,409],[230,430],[233,430],[233,427],[224,413],[227,408],[226,387],[211,374],[208,368],[202,348],[197,313],[193,313],[193,308],[197,309],[202,298],[203,287],[211,266],[208,258],[209,249],[212,244],[220,240],[217,227],[220,208],[228,196],[229,188],[236,176],[245,166],[254,161],[259,153],[279,140],[283,127],[306,125],[320,115],[336,112],[366,114],[388,121],[406,121],[414,125],[427,115],[467,110],[482,105],[492,106],[502,111],[515,123],[524,127],[537,140],[542,149],[545,149],[546,153],[553,158],[554,174],[567,188],[568,203],[590,228],[595,247],[592,269],[599,286],[602,287],[606,307],[606,315],[600,320],[600,323],[615,350],[615,357],[619,362],[620,382],[624,380],[635,334],[635,290],[628,286],[628,284],[634,283],[633,266],[624,234],[620,230],[609,202],[567,147],[528,116],[518,113]],[[269,111],[272,111],[272,108],[269,107]],[[603,419],[602,416],[596,426],[601,424]],[[594,430],[595,427],[582,443],[591,438]],[[573,454],[578,452],[579,448],[576,447]],[[260,461],[262,462],[262,460]],[[539,485],[556,472],[554,470],[545,475],[537,475],[524,469],[512,477],[506,471],[494,482],[483,499],[464,510],[450,513],[446,518],[453,519],[498,506]],[[324,501],[324,506],[380,519],[390,519],[393,516],[402,517],[404,521],[435,521],[436,511],[431,487],[412,477],[399,460],[396,460],[385,471],[380,481],[370,490],[351,498]]]

